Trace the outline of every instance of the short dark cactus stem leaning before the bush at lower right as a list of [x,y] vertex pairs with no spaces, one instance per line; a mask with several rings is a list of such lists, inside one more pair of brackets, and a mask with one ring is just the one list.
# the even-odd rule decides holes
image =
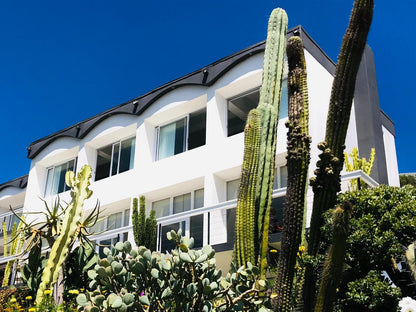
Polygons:
[[346,202],[335,208],[332,214],[332,245],[325,260],[315,312],[332,311],[344,265],[351,213],[352,206]]

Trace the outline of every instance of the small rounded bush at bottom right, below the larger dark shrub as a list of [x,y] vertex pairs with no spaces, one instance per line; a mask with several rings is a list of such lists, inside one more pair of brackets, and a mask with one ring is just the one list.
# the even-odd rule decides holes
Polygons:
[[348,283],[341,309],[343,312],[396,312],[400,299],[400,288],[392,287],[380,272],[370,271],[364,278]]

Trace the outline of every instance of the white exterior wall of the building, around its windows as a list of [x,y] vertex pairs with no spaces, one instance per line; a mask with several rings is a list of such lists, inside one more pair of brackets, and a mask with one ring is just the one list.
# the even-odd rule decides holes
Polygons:
[[[305,51],[310,112],[311,165],[313,175],[318,160],[317,144],[324,139],[326,115],[333,77]],[[263,54],[240,63],[213,86],[188,86],[175,89],[153,103],[142,115],[115,115],[97,125],[81,140],[61,138],[52,142],[31,163],[26,189],[25,210],[40,211],[44,203],[47,168],[78,157],[77,170],[89,164],[95,174],[97,149],[135,136],[134,168],[127,172],[92,182],[93,196],[85,209],[97,200],[105,214],[130,207],[131,198],[146,196],[146,207],[153,201],[204,188],[204,205],[226,200],[226,182],[240,175],[243,159],[243,133],[227,137],[227,99],[261,85]],[[156,127],[172,122],[206,107],[206,145],[159,161],[154,160]],[[351,116],[354,116],[352,112]],[[287,118],[279,121],[276,165],[285,165]],[[355,120],[351,117],[347,150],[357,146]],[[92,179],[94,181],[94,177]],[[69,199],[69,192],[59,196]],[[312,191],[308,190],[308,213],[312,209]],[[51,201],[52,198],[47,198]],[[227,242],[225,211],[211,213],[210,244]]]

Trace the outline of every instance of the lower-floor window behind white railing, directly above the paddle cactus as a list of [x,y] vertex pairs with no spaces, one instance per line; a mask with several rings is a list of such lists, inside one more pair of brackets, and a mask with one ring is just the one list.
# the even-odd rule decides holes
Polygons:
[[[152,203],[152,209],[156,211],[156,218],[177,214],[204,206],[204,189],[190,193],[158,200]],[[166,234],[171,230],[182,230],[182,233],[194,238],[194,247],[199,248],[203,245],[203,214],[184,218],[174,223],[164,222],[159,227],[159,249],[173,249],[173,242],[169,241]]]

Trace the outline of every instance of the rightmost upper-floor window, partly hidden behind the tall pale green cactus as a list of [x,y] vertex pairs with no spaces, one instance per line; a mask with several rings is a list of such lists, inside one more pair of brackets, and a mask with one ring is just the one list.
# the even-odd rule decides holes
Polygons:
[[[227,130],[228,136],[244,131],[247,115],[256,108],[260,99],[260,89],[250,90],[228,100]],[[280,97],[279,119],[288,115],[287,79],[282,81],[282,94]]]

